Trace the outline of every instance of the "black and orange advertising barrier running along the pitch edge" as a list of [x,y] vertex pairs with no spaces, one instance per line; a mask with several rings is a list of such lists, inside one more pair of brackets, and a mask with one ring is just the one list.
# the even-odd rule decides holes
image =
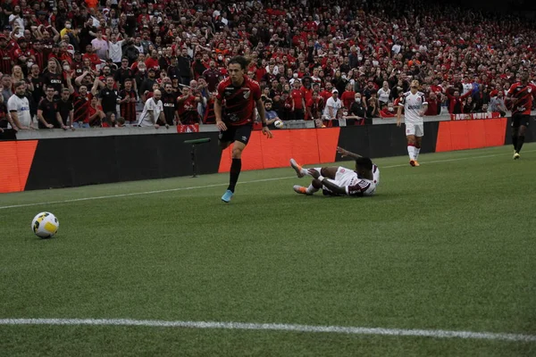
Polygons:
[[[506,118],[428,121],[422,153],[508,145],[510,131]],[[393,124],[278,129],[273,134],[267,139],[252,132],[243,170],[287,167],[290,157],[302,164],[348,160],[336,154],[337,145],[372,158],[406,155],[404,127]],[[211,142],[197,146],[197,173],[229,171],[231,148],[220,151],[217,132],[0,141],[0,193],[189,176],[191,145],[184,142],[203,137]],[[535,138],[532,125],[525,141]]]

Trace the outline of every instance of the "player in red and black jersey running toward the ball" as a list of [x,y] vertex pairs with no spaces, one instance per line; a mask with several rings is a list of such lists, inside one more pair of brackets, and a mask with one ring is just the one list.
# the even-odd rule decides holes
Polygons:
[[[271,138],[272,132],[266,126],[264,104],[261,100],[261,87],[255,80],[248,79],[244,73],[247,71],[248,61],[242,56],[230,59],[227,65],[229,78],[223,79],[218,85],[218,94],[214,100],[214,114],[216,126],[220,129],[220,147],[222,150],[231,143],[232,163],[230,164],[230,179],[227,191],[222,195],[222,201],[229,203],[234,195],[235,186],[239,180],[242,169],[242,151],[253,129],[255,121],[255,105],[261,117],[263,134]],[[222,115],[222,105],[225,114]]]

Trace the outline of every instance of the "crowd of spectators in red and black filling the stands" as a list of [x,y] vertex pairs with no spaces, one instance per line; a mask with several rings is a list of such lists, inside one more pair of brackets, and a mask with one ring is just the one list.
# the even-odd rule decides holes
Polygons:
[[507,112],[536,64],[532,22],[423,0],[3,0],[0,29],[0,127],[19,129],[136,125],[156,89],[168,124],[214,123],[238,54],[269,122],[317,126],[393,117],[411,79],[427,115]]

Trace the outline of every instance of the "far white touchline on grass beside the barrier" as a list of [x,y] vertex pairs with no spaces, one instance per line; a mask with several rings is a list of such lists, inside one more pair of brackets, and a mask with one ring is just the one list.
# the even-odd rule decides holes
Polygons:
[[[536,150],[526,150],[524,153],[532,153]],[[467,157],[460,157],[456,159],[446,159],[446,160],[436,160],[431,162],[420,162],[421,164],[428,164],[428,163],[441,163],[441,162],[459,162],[463,160],[473,160],[473,159],[483,159],[487,157],[495,157],[495,156],[502,156],[506,154],[489,154],[489,155],[480,155],[480,156],[467,156]],[[398,167],[405,167],[407,166],[407,163],[405,164],[399,164],[399,165],[390,165],[390,166],[382,166],[380,169],[393,169]],[[242,181],[239,182],[239,185],[244,184],[253,184],[258,182],[269,182],[269,181],[279,181],[281,179],[296,179],[296,176],[287,176],[284,178],[273,178],[273,179],[254,179],[251,181]],[[93,201],[93,200],[104,200],[106,198],[117,198],[117,197],[129,197],[133,195],[154,195],[154,194],[162,194],[165,192],[174,192],[174,191],[187,191],[187,190],[193,190],[193,189],[199,189],[199,188],[211,188],[211,187],[223,187],[228,186],[227,183],[222,184],[214,184],[214,185],[204,185],[204,186],[192,186],[192,187],[177,187],[177,188],[167,188],[163,190],[155,190],[155,191],[145,191],[145,192],[133,192],[130,194],[120,194],[120,195],[99,195],[94,197],[82,197],[82,198],[73,198],[70,200],[63,200],[63,201],[50,201],[50,202],[38,202],[38,203],[23,203],[23,204],[13,204],[9,206],[0,206],[0,210],[6,210],[10,208],[20,208],[20,207],[32,207],[32,206],[38,206],[43,204],[57,204],[57,203],[71,203],[71,202],[80,202],[80,201]]]

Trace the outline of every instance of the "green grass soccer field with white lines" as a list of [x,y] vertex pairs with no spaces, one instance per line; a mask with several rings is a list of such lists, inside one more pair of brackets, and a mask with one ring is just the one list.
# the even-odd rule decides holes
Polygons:
[[374,160],[364,198],[290,168],[229,204],[227,174],[0,195],[0,356],[535,355],[536,144],[512,154]]

